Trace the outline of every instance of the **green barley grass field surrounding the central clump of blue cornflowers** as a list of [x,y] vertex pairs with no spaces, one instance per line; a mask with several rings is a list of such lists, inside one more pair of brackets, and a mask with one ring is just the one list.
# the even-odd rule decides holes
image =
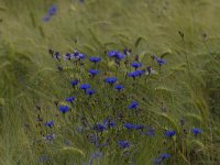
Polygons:
[[[201,139],[186,141],[187,156],[167,142],[174,155],[167,164],[217,165],[220,162],[220,2],[85,1],[0,0],[0,164],[37,165],[37,158],[44,154],[50,155],[47,164],[53,165],[88,162],[95,150],[92,145],[69,131],[75,128],[72,122],[65,122],[67,119],[56,120],[58,112],[53,102],[68,95],[68,82],[55,70],[48,48],[62,54],[77,48],[89,56],[105,57],[107,50],[129,47],[157,73],[151,55],[167,61],[162,75],[154,75],[147,84],[140,81],[140,92],[132,96],[148,114],[142,120],[156,123],[156,129],[162,131],[164,127],[179,130],[178,122],[185,118],[186,128],[204,130]],[[45,23],[42,18],[53,3],[57,4],[58,12]],[[184,33],[184,40],[179,32]],[[114,72],[113,63],[103,63],[100,67]],[[135,92],[132,87],[125,91],[128,96],[131,92]],[[105,96],[100,98],[108,102]],[[165,113],[160,109],[162,101]],[[41,139],[35,121],[36,105],[42,108],[45,120],[56,120],[54,130],[58,136],[53,145],[36,142]],[[69,147],[65,146],[65,140],[72,141]],[[132,151],[131,160],[121,158],[121,153],[112,146],[95,164],[128,164],[133,157],[138,164],[152,164],[154,157],[166,152],[163,141],[160,135],[154,140],[140,138],[139,150]]]

